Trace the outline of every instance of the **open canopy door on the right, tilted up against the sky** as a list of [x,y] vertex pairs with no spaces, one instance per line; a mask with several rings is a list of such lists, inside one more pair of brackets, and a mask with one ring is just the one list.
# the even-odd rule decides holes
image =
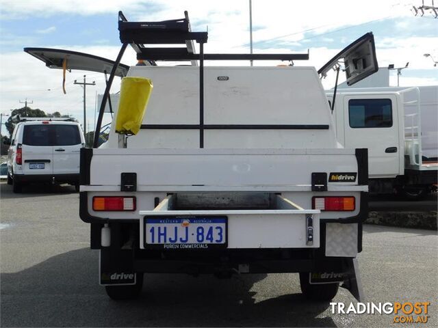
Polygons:
[[[339,61],[344,61],[346,82],[353,85],[365,77],[378,71],[376,58],[376,47],[374,46],[374,36],[372,32],[366,33],[346,46],[335,57],[330,59],[327,64],[318,70],[321,77],[326,77],[327,72],[339,65]],[[339,67],[339,66],[338,66]]]

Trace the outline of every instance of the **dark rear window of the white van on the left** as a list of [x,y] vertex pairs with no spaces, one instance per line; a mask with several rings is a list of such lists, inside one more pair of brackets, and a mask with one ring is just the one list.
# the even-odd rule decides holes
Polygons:
[[67,124],[26,125],[23,144],[28,146],[73,146],[81,143],[79,128]]

